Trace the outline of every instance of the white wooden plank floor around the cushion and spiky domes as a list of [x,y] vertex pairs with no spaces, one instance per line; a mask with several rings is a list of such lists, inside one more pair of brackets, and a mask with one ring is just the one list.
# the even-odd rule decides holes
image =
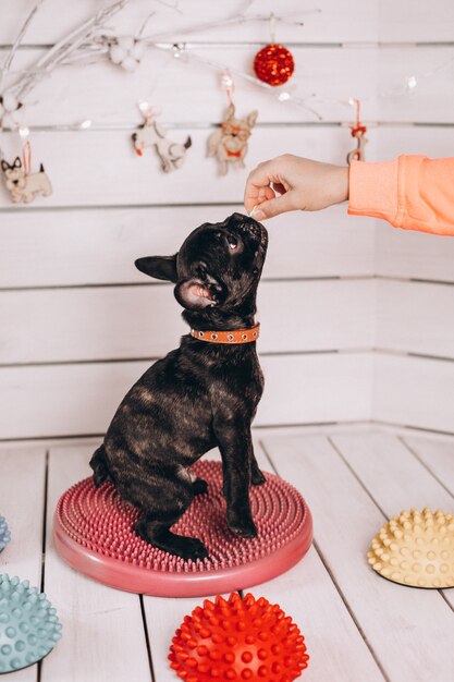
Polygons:
[[[453,512],[454,439],[351,427],[262,429],[256,441],[262,468],[297,487],[314,514],[315,544],[305,559],[250,590],[279,602],[299,625],[310,654],[303,679],[452,682],[454,589],[395,585],[365,557],[384,520],[401,510]],[[0,448],[0,513],[12,534],[0,572],[44,585],[63,623],[63,637],[40,666],[4,681],[177,680],[167,661],[172,634],[203,600],[142,598],[105,587],[68,568],[53,550],[56,502],[89,474],[93,449]]]

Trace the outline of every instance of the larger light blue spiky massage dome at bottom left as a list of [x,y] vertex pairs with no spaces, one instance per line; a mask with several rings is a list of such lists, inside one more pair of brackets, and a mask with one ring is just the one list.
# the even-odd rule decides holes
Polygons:
[[61,637],[57,611],[28,581],[0,575],[0,673],[47,656]]

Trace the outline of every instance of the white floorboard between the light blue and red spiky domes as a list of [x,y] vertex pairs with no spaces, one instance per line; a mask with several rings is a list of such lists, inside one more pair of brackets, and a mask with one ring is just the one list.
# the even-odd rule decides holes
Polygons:
[[63,636],[42,662],[41,682],[149,682],[139,597],[85,577],[53,548],[57,501],[90,474],[91,452],[79,446],[50,449],[45,587],[63,624]]

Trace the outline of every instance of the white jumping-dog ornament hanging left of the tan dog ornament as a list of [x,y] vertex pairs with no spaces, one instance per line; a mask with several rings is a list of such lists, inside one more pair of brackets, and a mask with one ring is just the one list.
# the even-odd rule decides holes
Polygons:
[[165,137],[167,131],[157,122],[152,108],[148,106],[140,106],[139,108],[145,122],[132,135],[136,154],[142,156],[146,147],[156,147],[164,173],[181,168],[186,151],[193,144],[191,136],[188,135],[183,144],[168,139]]

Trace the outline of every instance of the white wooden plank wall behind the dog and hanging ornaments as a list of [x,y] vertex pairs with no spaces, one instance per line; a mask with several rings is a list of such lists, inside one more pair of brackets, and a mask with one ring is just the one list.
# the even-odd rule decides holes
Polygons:
[[[58,0],[45,0],[16,68],[98,5],[81,0],[62,14]],[[274,5],[257,0],[249,12]],[[1,3],[0,63],[30,7]],[[147,35],[191,41],[187,63],[150,49],[134,74],[107,61],[65,68],[30,96],[23,122],[54,193],[17,208],[0,190],[0,439],[102,433],[147,362],[184,332],[171,288],[151,283],[133,261],[174,253],[197,224],[242,210],[247,170],[219,178],[205,158],[226,101],[219,74],[191,54],[247,70],[269,27],[221,25],[244,7],[182,0],[176,12],[136,0],[110,22],[113,34],[136,33],[156,10]],[[297,62],[289,92],[323,120],[236,78],[238,113],[259,110],[249,169],[289,150],[344,162],[351,96],[363,100],[369,160],[454,155],[452,2],[285,0],[279,14],[304,21],[278,24]],[[418,84],[408,93],[412,75]],[[143,158],[132,150],[143,99],[162,109],[173,138],[192,135],[185,166],[170,175],[151,150]],[[76,130],[85,119],[93,127]],[[2,134],[0,147],[14,156],[16,136]],[[453,431],[454,240],[348,218],[345,206],[268,228],[259,297],[268,386],[257,424],[375,418]]]

